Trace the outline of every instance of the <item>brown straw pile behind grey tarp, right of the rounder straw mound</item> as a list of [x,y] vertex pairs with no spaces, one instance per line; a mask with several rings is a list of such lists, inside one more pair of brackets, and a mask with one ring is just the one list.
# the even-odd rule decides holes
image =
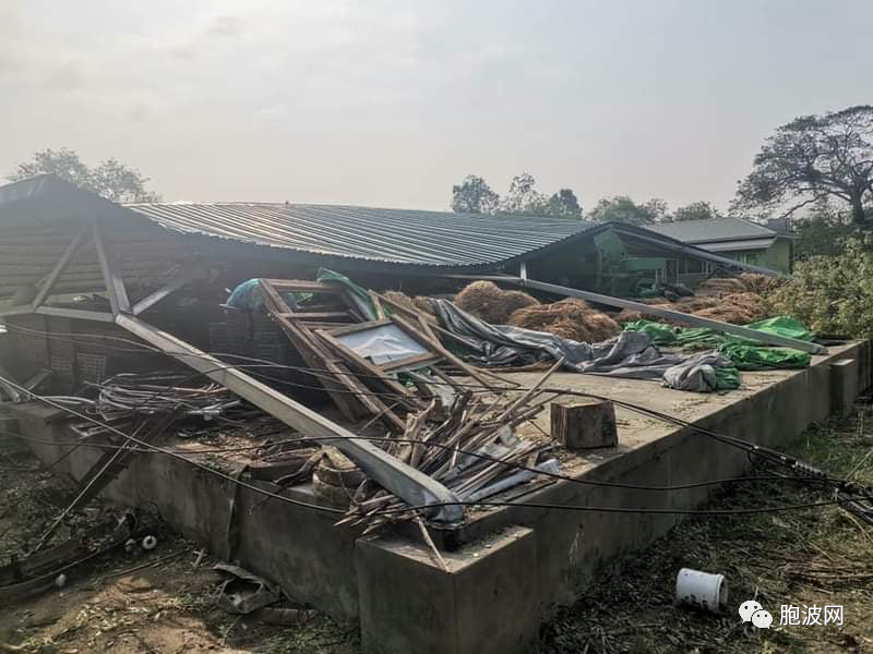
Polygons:
[[607,314],[575,298],[519,308],[510,316],[510,325],[586,343],[607,340],[621,331]]

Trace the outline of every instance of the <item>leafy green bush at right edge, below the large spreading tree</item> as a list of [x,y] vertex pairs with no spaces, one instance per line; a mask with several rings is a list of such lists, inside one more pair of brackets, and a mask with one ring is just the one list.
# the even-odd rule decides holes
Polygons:
[[873,235],[840,239],[838,251],[796,262],[770,300],[818,334],[873,337]]

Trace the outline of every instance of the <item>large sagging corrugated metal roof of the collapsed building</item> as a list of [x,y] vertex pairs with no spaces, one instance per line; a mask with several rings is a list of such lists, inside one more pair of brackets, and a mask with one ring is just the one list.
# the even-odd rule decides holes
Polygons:
[[554,218],[332,205],[157,203],[125,206],[178,232],[415,266],[494,265],[598,227]]

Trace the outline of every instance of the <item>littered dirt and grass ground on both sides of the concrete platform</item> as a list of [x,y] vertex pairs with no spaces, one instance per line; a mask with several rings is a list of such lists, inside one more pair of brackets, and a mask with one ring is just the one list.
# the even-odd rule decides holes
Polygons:
[[[834,474],[873,483],[873,417],[809,429],[786,451]],[[22,443],[0,438],[0,554],[32,544],[69,499]],[[797,484],[726,491],[705,508],[751,508],[823,499]],[[84,518],[58,533],[63,538]],[[359,652],[355,625],[314,616],[274,627],[225,611],[216,562],[171,533],[147,553],[113,554],[70,574],[62,589],[0,607],[0,651],[85,654],[152,652]],[[647,550],[602,569],[589,592],[541,629],[547,653],[824,654],[873,652],[873,528],[836,508],[687,520]],[[200,559],[200,560],[199,560]],[[198,564],[199,565],[195,565]],[[723,616],[673,604],[682,567],[726,576]],[[756,600],[769,630],[742,625],[737,607]],[[781,605],[841,605],[842,626],[780,626]]]

